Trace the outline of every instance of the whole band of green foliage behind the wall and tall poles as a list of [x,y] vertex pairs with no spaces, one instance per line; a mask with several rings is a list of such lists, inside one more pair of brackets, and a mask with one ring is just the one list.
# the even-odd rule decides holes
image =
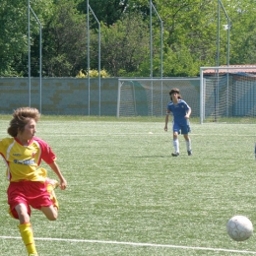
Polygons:
[[[231,22],[229,64],[255,64],[252,0],[223,0]],[[31,0],[42,31],[42,75],[73,76],[87,69],[87,1]],[[90,1],[90,58],[111,76],[150,76],[150,1]],[[196,76],[217,63],[218,1],[154,0],[153,75],[160,77],[160,20],[163,22],[163,76]],[[28,2],[1,0],[0,76],[28,75]],[[156,8],[156,9],[155,9]],[[157,11],[157,12],[156,12]],[[97,21],[96,21],[97,19]],[[226,64],[227,24],[221,8],[220,65]],[[32,76],[38,76],[39,27],[31,12]]]

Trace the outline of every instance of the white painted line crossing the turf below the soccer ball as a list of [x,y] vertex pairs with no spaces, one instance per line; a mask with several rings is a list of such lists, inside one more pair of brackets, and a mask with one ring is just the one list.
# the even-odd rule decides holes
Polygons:
[[[0,236],[0,239],[21,239],[21,237],[15,236]],[[191,249],[201,251],[223,251],[243,254],[256,254],[256,251],[245,251],[245,250],[231,250],[223,248],[211,248],[211,247],[197,247],[197,246],[182,246],[182,245],[171,245],[171,244],[157,244],[157,243],[140,243],[140,242],[118,242],[118,241],[101,241],[101,240],[87,240],[87,239],[64,239],[64,238],[43,238],[37,237],[35,240],[45,241],[63,241],[63,242],[85,242],[85,243],[102,243],[102,244],[120,244],[130,246],[145,246],[145,247],[162,247],[162,248],[176,248],[176,249]]]

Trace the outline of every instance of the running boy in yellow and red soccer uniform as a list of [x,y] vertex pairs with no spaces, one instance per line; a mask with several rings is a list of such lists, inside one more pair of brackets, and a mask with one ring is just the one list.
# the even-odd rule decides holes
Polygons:
[[[36,108],[16,109],[7,130],[11,138],[0,140],[0,155],[6,162],[10,181],[7,190],[9,213],[20,221],[21,236],[31,256],[38,255],[32,234],[31,207],[40,210],[48,220],[55,221],[59,206],[53,190],[57,186],[62,190],[67,187],[51,148],[34,137],[39,116]],[[55,172],[59,183],[49,179],[46,170],[39,167],[41,160]]]

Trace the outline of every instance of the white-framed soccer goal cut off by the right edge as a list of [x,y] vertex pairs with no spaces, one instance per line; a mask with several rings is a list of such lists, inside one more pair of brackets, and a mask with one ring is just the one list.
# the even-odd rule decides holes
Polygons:
[[200,69],[200,123],[256,117],[256,66]]

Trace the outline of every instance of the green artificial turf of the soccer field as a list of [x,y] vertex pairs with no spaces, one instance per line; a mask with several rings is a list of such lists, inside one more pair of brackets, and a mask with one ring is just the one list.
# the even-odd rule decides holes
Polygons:
[[[0,138],[9,119],[1,117]],[[256,224],[256,125],[192,120],[193,156],[179,136],[178,158],[171,124],[163,127],[164,117],[42,116],[36,135],[57,155],[68,188],[56,190],[56,222],[32,211],[40,256],[256,254],[254,236],[235,242],[225,230],[234,215]],[[0,169],[0,255],[27,255],[7,214],[3,161]]]

